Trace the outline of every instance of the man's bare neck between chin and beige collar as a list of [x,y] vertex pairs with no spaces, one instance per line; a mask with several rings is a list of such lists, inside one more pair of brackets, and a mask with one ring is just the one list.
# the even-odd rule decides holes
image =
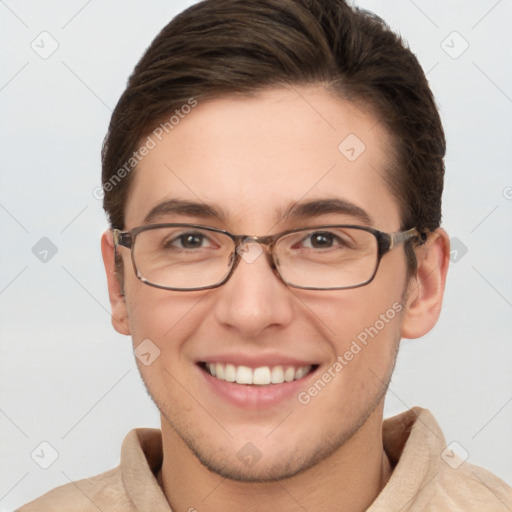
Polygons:
[[391,476],[382,446],[382,406],[329,457],[298,475],[271,482],[237,482],[209,471],[165,418],[162,437],[159,482],[173,510],[359,512],[371,505]]

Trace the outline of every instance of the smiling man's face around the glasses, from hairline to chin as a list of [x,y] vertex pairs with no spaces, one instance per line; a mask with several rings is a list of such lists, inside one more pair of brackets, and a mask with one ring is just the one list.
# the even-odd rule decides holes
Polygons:
[[[149,222],[245,235],[327,224],[398,231],[398,203],[383,179],[388,140],[374,118],[320,88],[200,103],[139,164],[125,228],[148,223],[162,203],[188,201],[208,211],[159,208]],[[332,199],[368,218],[321,207],[283,215]],[[134,347],[148,339],[158,347],[151,364],[138,364],[163,430],[211,470],[251,481],[291,476],[336,453],[382,406],[407,287],[403,246],[383,257],[370,284],[330,291],[287,287],[264,255],[242,259],[219,288],[162,290],[136,278],[128,249],[119,254],[125,302],[114,320]],[[279,367],[292,368],[294,380],[226,382],[208,365],[270,371],[277,381]]]

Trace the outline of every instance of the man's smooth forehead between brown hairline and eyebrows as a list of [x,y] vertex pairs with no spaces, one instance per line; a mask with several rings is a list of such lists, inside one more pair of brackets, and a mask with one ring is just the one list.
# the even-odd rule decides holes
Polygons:
[[219,98],[182,117],[169,133],[150,134],[155,145],[135,170],[127,228],[178,200],[208,205],[232,229],[263,233],[298,202],[340,199],[377,219],[375,227],[398,229],[385,181],[388,134],[324,89]]

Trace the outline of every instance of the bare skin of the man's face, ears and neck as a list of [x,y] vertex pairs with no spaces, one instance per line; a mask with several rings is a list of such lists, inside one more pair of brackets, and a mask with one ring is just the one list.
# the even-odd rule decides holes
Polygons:
[[[366,145],[353,162],[338,150],[349,134]],[[364,209],[369,225],[392,233],[400,229],[400,212],[382,179],[389,153],[376,119],[320,87],[200,103],[139,164],[125,227],[142,225],[168,199],[204,202],[224,215],[164,215],[153,222],[250,235],[363,224],[340,213],[280,215],[298,201],[341,198]],[[369,285],[337,291],[289,288],[265,257],[241,261],[220,288],[160,290],[136,278],[130,252],[121,248],[123,295],[109,232],[102,250],[115,328],[131,335],[134,347],[149,338],[161,351],[139,368],[161,412],[159,479],[173,510],[358,511],[371,504],[391,472],[381,428],[399,340],[427,333],[441,308],[449,257],[442,229],[416,249],[418,272],[410,280],[398,246]],[[205,385],[197,365],[233,353],[300,357],[319,365],[303,380],[307,390],[394,303],[403,310],[307,404],[294,395],[271,407],[234,405]],[[237,457],[247,442],[262,455],[251,467]]]

